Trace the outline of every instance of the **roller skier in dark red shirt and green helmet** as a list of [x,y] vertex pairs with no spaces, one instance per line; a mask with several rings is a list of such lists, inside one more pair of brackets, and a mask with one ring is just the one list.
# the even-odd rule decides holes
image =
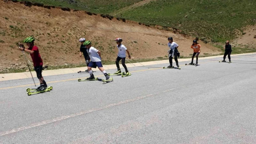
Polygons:
[[38,87],[38,90],[45,90],[47,88],[47,84],[42,76],[43,60],[40,56],[38,47],[34,45],[34,41],[35,39],[33,37],[26,38],[24,40],[24,43],[27,44],[28,48],[25,48],[23,44],[19,44],[20,50],[30,53],[34,64],[34,70],[36,71],[36,76],[40,81],[40,86]]

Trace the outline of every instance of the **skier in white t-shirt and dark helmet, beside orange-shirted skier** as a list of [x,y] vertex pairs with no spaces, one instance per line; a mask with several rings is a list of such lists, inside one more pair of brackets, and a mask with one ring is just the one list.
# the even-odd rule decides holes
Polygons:
[[176,66],[180,69],[179,62],[178,62],[178,56],[180,57],[180,55],[179,55],[180,53],[177,50],[177,48],[179,46],[178,46],[178,44],[176,44],[176,42],[173,42],[172,37],[169,37],[168,41],[169,41],[168,47],[170,48],[170,50],[168,50],[168,52],[169,52],[169,62],[170,62],[170,66],[168,66],[168,68],[174,68],[174,66],[172,66],[172,58],[174,56]]

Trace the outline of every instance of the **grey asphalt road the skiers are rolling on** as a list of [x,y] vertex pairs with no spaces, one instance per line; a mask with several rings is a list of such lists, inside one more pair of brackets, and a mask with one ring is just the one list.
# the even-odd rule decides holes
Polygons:
[[46,76],[53,90],[32,96],[32,79],[0,82],[0,144],[255,144],[256,54],[219,60],[129,68],[108,83]]

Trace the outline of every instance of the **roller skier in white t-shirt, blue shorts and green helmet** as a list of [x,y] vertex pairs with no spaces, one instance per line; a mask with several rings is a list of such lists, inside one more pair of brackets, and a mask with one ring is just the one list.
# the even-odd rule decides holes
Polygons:
[[98,67],[99,70],[104,74],[104,76],[106,76],[106,80],[108,80],[110,77],[108,76],[108,74],[106,73],[106,71],[104,70],[103,66],[102,66],[102,63],[101,63],[101,53],[99,50],[97,50],[96,48],[92,47],[91,46],[91,42],[88,40],[88,41],[85,41],[84,42],[84,45],[86,46],[87,48],[87,53],[88,55],[90,56],[90,63],[88,64],[88,72],[90,74],[90,77],[87,78],[88,80],[93,80],[95,79],[94,78],[94,75],[92,74],[92,68],[96,68]]

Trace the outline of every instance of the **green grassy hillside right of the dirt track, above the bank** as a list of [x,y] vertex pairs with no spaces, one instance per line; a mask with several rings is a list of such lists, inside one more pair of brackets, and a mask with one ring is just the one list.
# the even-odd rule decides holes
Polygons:
[[206,37],[212,42],[224,42],[235,38],[236,29],[242,31],[242,27],[256,24],[255,9],[256,4],[251,0],[157,0],[129,9],[122,16],[147,24],[178,28],[183,33]]

